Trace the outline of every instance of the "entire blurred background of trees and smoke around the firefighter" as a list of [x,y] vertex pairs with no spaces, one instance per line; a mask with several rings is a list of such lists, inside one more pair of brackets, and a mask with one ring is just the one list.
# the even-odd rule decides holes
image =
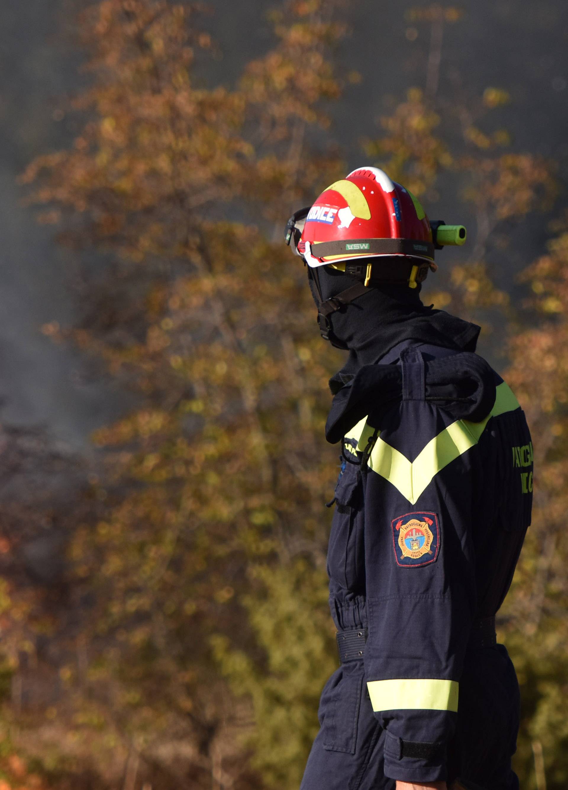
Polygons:
[[282,231],[363,164],[468,227],[424,294],[538,438],[498,634],[566,787],[567,45],[560,0],[2,2],[0,790],[297,790],[342,355]]

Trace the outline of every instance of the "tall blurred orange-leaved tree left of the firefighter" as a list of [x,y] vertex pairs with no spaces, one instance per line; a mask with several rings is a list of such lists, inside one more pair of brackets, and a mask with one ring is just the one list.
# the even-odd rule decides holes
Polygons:
[[[309,151],[310,130],[327,126],[320,103],[340,89],[326,59],[342,35],[333,10],[330,0],[287,2],[274,15],[275,50],[230,92],[192,80],[211,41],[191,6],[93,6],[83,28],[94,85],[77,103],[88,122],[73,151],[25,176],[39,179],[34,199],[49,204],[48,219],[65,217],[67,243],[118,256],[100,280],[86,276],[88,312],[67,334],[140,397],[96,437],[116,452],[95,486],[107,515],[78,529],[70,549],[94,599],[81,633],[88,669],[69,667],[69,698],[97,750],[118,738],[143,771],[168,744],[170,772],[184,783],[190,771],[196,786],[245,781],[227,733],[253,713],[264,749],[255,765],[292,787],[334,664],[323,592],[334,453],[317,405],[333,353],[314,332],[301,267],[267,238],[267,220],[278,218],[279,237],[293,201],[340,173],[333,151]],[[243,213],[258,225],[234,221]],[[301,672],[284,671],[305,617],[321,641]],[[249,655],[248,700],[223,689],[211,631]],[[234,675],[226,644],[215,650]],[[275,663],[279,717],[266,705]]]

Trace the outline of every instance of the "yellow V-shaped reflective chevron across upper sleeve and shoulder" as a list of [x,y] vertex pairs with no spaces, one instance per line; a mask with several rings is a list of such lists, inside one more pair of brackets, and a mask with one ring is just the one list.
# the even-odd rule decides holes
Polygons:
[[[517,408],[517,398],[503,382],[497,387],[491,412],[480,423],[472,423],[469,419],[456,420],[432,438],[412,463],[379,436],[368,458],[368,468],[392,483],[414,505],[438,472],[479,442],[491,417],[514,412]],[[373,432],[365,417],[346,434],[346,438],[349,437],[352,444],[357,441],[357,450],[363,452]]]

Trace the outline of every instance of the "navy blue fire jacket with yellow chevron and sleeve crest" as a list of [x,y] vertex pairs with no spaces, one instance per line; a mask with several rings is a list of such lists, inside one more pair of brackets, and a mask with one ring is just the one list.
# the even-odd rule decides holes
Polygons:
[[[448,354],[409,348],[398,364],[362,367],[326,427],[342,442],[331,613],[339,631],[365,629],[364,683],[391,780],[447,779],[472,629],[503,603],[530,523],[524,412],[484,359]],[[353,753],[333,727],[324,748]]]

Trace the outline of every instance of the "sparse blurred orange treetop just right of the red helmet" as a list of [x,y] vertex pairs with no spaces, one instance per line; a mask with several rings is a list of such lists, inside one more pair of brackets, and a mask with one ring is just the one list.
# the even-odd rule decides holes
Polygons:
[[[428,205],[438,200],[436,187],[442,179],[446,188],[457,187],[456,198],[473,209],[476,228],[469,233],[467,261],[452,267],[447,288],[432,291],[428,280],[425,299],[480,321],[485,336],[491,332],[491,321],[503,323],[503,313],[512,317],[509,295],[495,288],[488,264],[495,231],[500,246],[506,247],[514,224],[529,211],[550,209],[556,194],[551,162],[527,152],[503,153],[510,145],[506,130],[481,131],[481,126],[490,126],[486,116],[491,109],[507,100],[506,92],[486,88],[467,105],[443,99],[436,105],[420,88],[410,88],[406,101],[380,119],[383,134],[364,143],[379,167],[417,197],[424,196]],[[503,353],[499,345],[491,350]]]

